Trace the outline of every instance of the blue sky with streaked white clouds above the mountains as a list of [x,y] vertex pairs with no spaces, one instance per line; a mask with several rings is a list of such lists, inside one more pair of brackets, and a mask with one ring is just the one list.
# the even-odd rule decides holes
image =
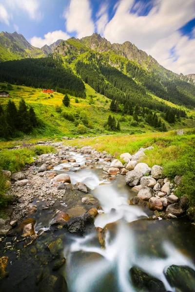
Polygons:
[[0,0],[0,31],[36,47],[97,32],[173,72],[195,73],[195,0]]

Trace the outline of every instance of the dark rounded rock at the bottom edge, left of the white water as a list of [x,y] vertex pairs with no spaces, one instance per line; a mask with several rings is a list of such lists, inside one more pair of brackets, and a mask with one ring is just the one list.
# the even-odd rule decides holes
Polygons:
[[45,277],[39,286],[39,292],[68,292],[67,283],[60,274]]

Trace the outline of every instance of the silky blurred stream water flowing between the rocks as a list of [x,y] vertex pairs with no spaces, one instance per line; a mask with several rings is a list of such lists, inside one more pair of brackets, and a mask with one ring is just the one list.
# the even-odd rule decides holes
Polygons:
[[[86,157],[81,154],[71,152],[70,155],[81,165],[86,162]],[[129,270],[135,266],[163,281],[167,291],[176,292],[174,287],[170,287],[163,271],[173,264],[195,269],[195,226],[184,219],[149,220],[153,212],[128,204],[128,199],[136,194],[125,184],[122,175],[114,181],[105,179],[106,173],[102,168],[107,163],[103,160],[93,169],[77,172],[60,170],[62,166],[73,164],[60,164],[55,169],[59,173],[68,173],[73,184],[85,183],[91,189],[90,195],[98,199],[102,210],[95,219],[95,226],[106,226],[105,249],[98,242],[95,228],[78,237],[65,229],[50,227],[53,211],[41,210],[38,206],[34,215],[35,230],[45,232],[36,239],[34,253],[33,243],[26,247],[18,260],[13,256],[13,264],[9,266],[10,276],[1,282],[1,289],[38,291],[35,276],[39,274],[39,262],[41,267],[51,268],[49,261],[44,262],[44,253],[48,253],[45,246],[52,238],[60,237],[66,265],[55,273],[65,276],[70,292],[134,292]],[[72,194],[78,195],[74,204],[80,204],[83,208],[81,198],[85,194],[78,191],[72,191]],[[69,213],[74,204],[67,200],[68,197],[62,199],[54,207]],[[85,208],[88,210],[89,205]]]

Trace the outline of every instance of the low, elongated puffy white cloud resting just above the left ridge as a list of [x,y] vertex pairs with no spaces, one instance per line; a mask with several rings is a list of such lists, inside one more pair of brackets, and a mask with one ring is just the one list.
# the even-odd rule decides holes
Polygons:
[[44,38],[32,37],[30,39],[30,43],[34,47],[41,48],[46,44],[48,46],[51,45],[53,42],[57,41],[58,39],[66,40],[67,38],[69,38],[69,35],[59,30],[59,31],[54,31],[52,33],[47,33],[46,35],[44,35]]

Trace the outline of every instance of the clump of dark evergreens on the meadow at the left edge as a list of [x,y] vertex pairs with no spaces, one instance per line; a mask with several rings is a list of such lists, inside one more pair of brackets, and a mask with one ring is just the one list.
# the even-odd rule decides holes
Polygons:
[[11,99],[4,110],[0,105],[0,138],[14,138],[20,135],[19,132],[28,134],[38,126],[39,122],[33,107],[28,107],[23,98],[20,99],[18,108]]

